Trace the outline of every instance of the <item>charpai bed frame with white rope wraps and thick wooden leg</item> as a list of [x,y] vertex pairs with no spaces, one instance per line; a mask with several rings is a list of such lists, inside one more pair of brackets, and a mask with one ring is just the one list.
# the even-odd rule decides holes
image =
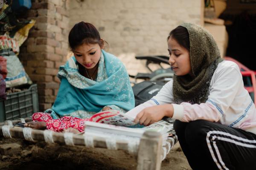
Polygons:
[[[19,122],[31,122],[31,118],[20,118],[0,122],[0,135],[5,138],[21,138],[31,142],[45,141],[47,143],[61,143],[71,146],[101,147],[110,150],[127,150],[137,157],[137,170],[160,170],[161,161],[177,142],[174,130],[163,145],[162,135],[155,131],[145,131],[140,142],[130,139],[113,139],[111,136],[99,137],[99,135],[84,135],[83,133],[58,133],[51,130],[34,130],[29,127],[15,127]],[[166,120],[168,121],[168,120]],[[173,122],[168,122],[171,125]]]

